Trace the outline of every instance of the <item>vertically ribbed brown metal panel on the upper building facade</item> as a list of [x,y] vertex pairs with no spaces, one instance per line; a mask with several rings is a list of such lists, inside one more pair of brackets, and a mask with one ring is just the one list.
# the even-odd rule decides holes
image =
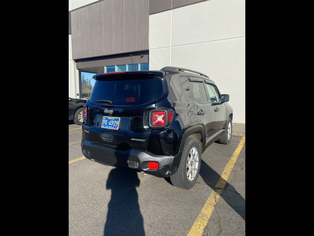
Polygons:
[[149,0],[103,0],[71,12],[73,59],[149,48]]

